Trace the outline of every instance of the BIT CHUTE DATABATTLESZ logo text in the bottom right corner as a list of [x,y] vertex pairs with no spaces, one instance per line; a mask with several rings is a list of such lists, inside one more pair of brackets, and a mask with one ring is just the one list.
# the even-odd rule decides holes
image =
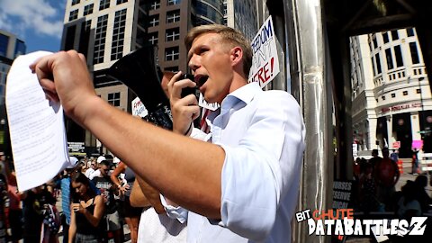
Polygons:
[[368,236],[368,235],[418,235],[425,233],[428,217],[412,217],[411,220],[359,220],[354,219],[353,209],[328,211],[304,210],[295,213],[297,222],[307,220],[308,234],[317,236]]

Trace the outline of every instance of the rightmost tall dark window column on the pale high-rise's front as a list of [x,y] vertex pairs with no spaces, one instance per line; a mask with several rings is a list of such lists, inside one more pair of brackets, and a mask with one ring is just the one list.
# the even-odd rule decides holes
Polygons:
[[124,29],[126,26],[126,9],[115,12],[114,29],[112,30],[111,60],[123,56]]

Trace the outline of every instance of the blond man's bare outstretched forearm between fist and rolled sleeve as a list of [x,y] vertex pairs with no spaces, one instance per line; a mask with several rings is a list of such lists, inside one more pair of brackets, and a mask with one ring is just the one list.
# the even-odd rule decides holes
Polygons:
[[222,148],[157,128],[97,96],[81,108],[75,120],[139,177],[184,208],[220,218]]

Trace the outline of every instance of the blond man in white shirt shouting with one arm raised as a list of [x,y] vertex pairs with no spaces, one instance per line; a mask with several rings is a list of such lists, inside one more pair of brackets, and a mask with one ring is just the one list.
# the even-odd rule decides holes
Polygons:
[[[174,132],[105,103],[94,93],[84,56],[74,50],[40,58],[31,69],[69,117],[189,210],[188,241],[289,242],[304,150],[299,104],[284,91],[247,82],[253,51],[239,31],[202,25],[185,44],[194,80],[179,72],[168,84]],[[207,116],[208,142],[189,138],[200,108],[181,90],[196,85],[208,103],[221,104]]]

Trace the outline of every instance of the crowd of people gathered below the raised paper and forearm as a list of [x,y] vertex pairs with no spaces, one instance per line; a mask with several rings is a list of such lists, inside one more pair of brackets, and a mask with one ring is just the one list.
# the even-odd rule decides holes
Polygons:
[[4,238],[12,242],[58,242],[61,234],[63,242],[111,239],[119,243],[124,241],[122,226],[127,223],[131,242],[137,242],[143,208],[130,205],[133,172],[123,163],[104,157],[71,160],[76,166],[23,193],[17,190],[13,163],[3,161],[2,165],[8,165],[0,174],[7,175],[7,179],[0,178],[7,191],[2,200],[7,218],[4,225],[10,229]]

